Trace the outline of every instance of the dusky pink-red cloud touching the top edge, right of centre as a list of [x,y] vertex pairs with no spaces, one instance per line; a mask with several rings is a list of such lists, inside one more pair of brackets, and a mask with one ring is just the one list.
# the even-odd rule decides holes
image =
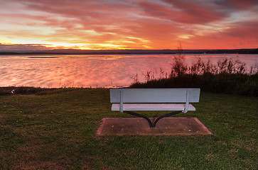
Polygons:
[[207,1],[165,1],[167,5],[154,4],[155,1],[142,2],[140,5],[144,8],[147,15],[166,18],[179,23],[208,23],[217,21],[227,16],[227,13],[221,13]]

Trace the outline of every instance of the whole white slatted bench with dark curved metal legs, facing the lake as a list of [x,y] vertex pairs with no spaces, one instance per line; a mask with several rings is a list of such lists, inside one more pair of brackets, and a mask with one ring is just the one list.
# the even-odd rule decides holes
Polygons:
[[[112,111],[129,113],[149,122],[150,128],[155,128],[156,123],[161,118],[195,111],[195,107],[190,103],[198,103],[200,89],[110,89],[110,103]],[[145,115],[132,111],[173,111],[165,115],[158,116],[152,123]]]

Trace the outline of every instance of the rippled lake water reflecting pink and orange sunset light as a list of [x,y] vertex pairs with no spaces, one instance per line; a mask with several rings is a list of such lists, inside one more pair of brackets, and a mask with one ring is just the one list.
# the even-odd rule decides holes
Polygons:
[[[129,86],[136,74],[159,69],[170,72],[175,55],[0,55],[0,86],[110,87]],[[200,57],[216,63],[225,57],[240,60],[247,69],[258,55],[184,55],[190,65]]]

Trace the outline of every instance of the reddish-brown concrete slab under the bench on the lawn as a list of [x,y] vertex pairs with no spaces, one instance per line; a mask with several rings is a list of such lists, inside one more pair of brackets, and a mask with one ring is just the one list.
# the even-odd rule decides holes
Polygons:
[[[153,121],[155,118],[150,118]],[[103,118],[97,135],[212,135],[198,118],[162,118],[149,128],[144,118]]]

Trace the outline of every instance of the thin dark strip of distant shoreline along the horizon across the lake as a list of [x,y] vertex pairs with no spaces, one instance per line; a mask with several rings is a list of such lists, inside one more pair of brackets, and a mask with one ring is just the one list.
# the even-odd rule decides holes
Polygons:
[[234,50],[42,50],[42,51],[0,51],[0,55],[146,55],[146,54],[258,54],[256,49]]

